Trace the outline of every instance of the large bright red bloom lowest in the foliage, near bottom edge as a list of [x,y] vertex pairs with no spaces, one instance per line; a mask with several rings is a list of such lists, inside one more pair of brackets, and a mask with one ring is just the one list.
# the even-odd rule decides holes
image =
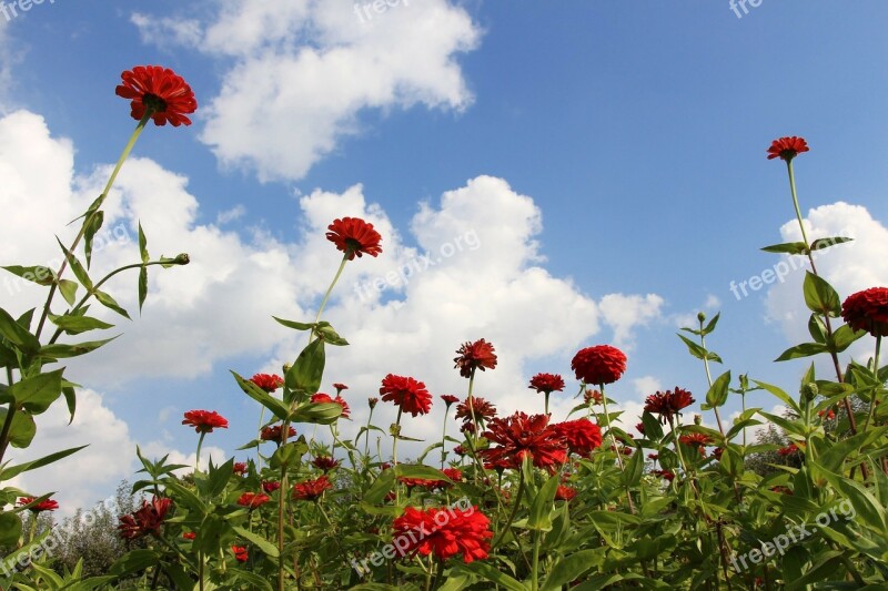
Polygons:
[[472,509],[430,508],[421,511],[407,507],[404,514],[394,520],[395,548],[402,557],[424,557],[433,553],[445,561],[456,554],[463,562],[487,558],[493,531],[491,520],[477,507]]

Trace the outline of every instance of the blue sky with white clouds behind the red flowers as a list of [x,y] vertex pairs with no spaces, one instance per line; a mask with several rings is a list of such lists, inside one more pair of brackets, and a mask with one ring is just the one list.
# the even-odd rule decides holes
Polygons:
[[[821,271],[842,296],[888,283],[881,2],[764,0],[743,18],[727,0],[391,3],[370,20],[307,0],[0,14],[1,264],[51,259],[105,177],[134,126],[113,93],[121,71],[170,67],[200,105],[190,128],[145,132],[109,213],[131,236],[142,220],[152,254],[194,263],[158,274],[124,336],[71,365],[90,388],[82,417],[47,417],[53,444],[34,451],[93,440],[69,468],[100,473],[72,483],[60,467],[22,486],[85,503],[130,477],[137,444],[186,459],[192,408],[232,419],[206,441],[219,457],[249,440],[258,414],[228,369],[295,357],[303,340],[270,316],[313,317],[336,264],[323,232],[344,215],[376,223],[385,248],[350,264],[329,314],[353,346],[331,355],[325,388],[352,386],[355,429],[390,371],[464,395],[453,351],[481,337],[501,366],[480,388],[504,410],[539,411],[526,380],[572,377],[573,353],[599,343],[629,356],[612,390],[629,415],[656,387],[703,398],[675,337],[699,309],[723,313],[710,344],[727,368],[793,391],[804,364],[770,360],[805,336],[803,274],[739,300],[729,288],[779,261],[759,247],[795,240],[785,166],[765,157],[781,135],[811,145],[797,176],[813,233],[857,238]],[[355,300],[355,283],[471,234],[477,248]],[[133,257],[132,242],[111,246],[109,265]],[[131,302],[133,285],[113,293]],[[36,302],[0,289],[6,308]],[[415,432],[437,431],[440,410]]]

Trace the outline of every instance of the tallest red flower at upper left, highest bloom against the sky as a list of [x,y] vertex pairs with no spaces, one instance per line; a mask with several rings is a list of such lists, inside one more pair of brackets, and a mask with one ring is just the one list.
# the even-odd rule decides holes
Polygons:
[[198,101],[182,77],[160,65],[137,65],[120,78],[123,84],[118,85],[115,93],[132,101],[130,114],[134,120],[141,120],[145,109],[150,109],[155,125],[167,122],[174,128],[182,123],[191,125],[185,115],[198,110]]

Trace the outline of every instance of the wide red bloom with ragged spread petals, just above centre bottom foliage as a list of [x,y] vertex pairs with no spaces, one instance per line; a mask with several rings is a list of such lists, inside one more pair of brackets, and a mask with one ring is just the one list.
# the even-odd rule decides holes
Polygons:
[[528,417],[524,412],[515,412],[505,419],[493,419],[484,437],[498,446],[478,452],[491,463],[505,460],[509,468],[517,469],[528,455],[537,468],[551,468],[567,460],[566,444],[548,425],[546,415]]

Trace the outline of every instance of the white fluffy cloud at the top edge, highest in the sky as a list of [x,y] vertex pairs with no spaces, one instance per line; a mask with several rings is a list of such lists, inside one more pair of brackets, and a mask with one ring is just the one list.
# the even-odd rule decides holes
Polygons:
[[210,22],[132,21],[147,42],[181,43],[229,70],[202,109],[202,139],[228,166],[263,181],[300,179],[361,131],[364,110],[422,104],[458,111],[472,101],[457,63],[481,31],[446,0],[361,3],[218,2]]

